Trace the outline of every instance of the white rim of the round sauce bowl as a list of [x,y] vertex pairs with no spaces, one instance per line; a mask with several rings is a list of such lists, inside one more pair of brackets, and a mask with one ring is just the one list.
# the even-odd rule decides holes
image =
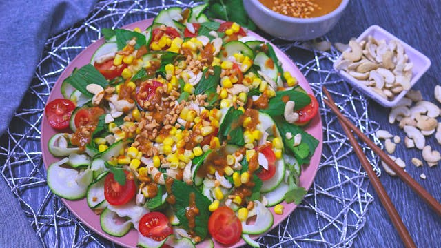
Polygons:
[[340,5],[335,9],[329,12],[328,14],[322,15],[320,17],[311,17],[311,18],[298,18],[298,17],[289,17],[285,14],[279,14],[278,12],[275,12],[273,10],[270,10],[267,8],[267,6],[263,5],[263,3],[260,3],[259,0],[246,0],[251,1],[254,6],[257,8],[260,8],[260,10],[263,10],[267,14],[269,14],[271,17],[274,17],[276,19],[281,19],[282,21],[288,21],[292,23],[318,23],[321,21],[325,21],[327,19],[330,19],[332,17],[335,17],[336,15],[340,14],[343,10],[345,10],[347,4],[349,3],[349,0],[342,0]]

